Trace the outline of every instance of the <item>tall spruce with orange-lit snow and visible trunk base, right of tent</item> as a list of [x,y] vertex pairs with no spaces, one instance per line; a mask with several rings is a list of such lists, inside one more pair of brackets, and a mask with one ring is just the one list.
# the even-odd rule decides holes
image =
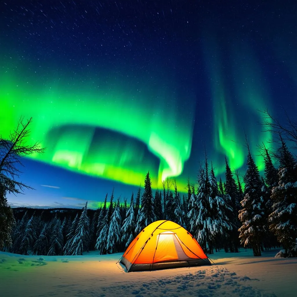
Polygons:
[[242,226],[238,229],[239,239],[244,247],[251,247],[254,256],[261,256],[261,244],[265,225],[265,205],[262,197],[262,182],[259,170],[247,145],[247,171],[244,175],[244,198],[241,201],[239,219]]

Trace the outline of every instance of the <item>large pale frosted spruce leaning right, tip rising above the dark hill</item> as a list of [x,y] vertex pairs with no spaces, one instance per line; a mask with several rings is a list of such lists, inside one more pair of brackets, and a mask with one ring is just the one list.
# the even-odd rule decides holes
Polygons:
[[69,255],[82,255],[84,251],[88,250],[90,219],[87,213],[87,206],[88,201],[83,207],[83,212],[78,220],[75,235],[69,248]]

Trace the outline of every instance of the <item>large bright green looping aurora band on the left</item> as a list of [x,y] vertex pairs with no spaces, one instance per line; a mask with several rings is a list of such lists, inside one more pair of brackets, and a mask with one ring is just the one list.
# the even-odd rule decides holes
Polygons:
[[[143,183],[151,170],[159,188],[167,177],[182,173],[191,152],[193,115],[178,106],[174,89],[131,90],[111,79],[92,89],[78,81],[67,88],[60,79],[44,86],[37,75],[17,76],[13,69],[10,65],[0,82],[6,111],[1,134],[8,137],[20,116],[32,117],[31,141],[40,142],[46,152],[31,158],[131,185]],[[109,132],[96,136],[98,128]]]

